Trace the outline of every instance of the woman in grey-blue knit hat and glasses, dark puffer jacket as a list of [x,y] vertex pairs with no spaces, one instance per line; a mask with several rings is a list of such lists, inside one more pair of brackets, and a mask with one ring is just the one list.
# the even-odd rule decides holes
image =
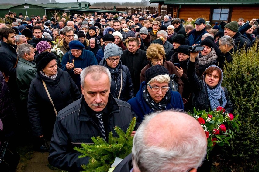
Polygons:
[[122,48],[114,43],[109,43],[104,49],[104,58],[99,65],[107,67],[111,72],[113,97],[127,101],[134,97],[134,88],[129,69],[120,61],[122,54]]

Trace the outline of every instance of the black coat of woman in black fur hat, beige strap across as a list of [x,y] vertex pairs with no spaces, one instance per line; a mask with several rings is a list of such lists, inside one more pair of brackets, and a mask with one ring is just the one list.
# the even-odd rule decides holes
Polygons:
[[28,115],[32,124],[32,134],[40,136],[44,134],[51,138],[56,114],[43,86],[45,81],[50,97],[57,112],[80,98],[79,90],[66,71],[58,68],[57,78],[52,80],[37,71],[36,78],[32,80],[28,97]]

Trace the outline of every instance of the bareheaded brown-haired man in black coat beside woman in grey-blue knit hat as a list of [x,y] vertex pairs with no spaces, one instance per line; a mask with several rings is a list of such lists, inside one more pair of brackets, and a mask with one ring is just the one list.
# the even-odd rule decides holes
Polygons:
[[148,64],[146,51],[140,50],[138,38],[128,39],[128,49],[123,51],[121,62],[130,70],[135,95],[140,89],[140,73]]

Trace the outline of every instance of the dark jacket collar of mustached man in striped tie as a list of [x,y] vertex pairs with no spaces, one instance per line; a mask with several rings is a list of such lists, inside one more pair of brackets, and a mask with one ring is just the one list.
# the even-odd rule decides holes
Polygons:
[[[109,93],[109,98],[108,98],[108,104],[106,106],[108,106],[108,115],[115,113],[115,112],[119,112],[120,111],[120,107],[119,104],[117,103],[117,101],[115,100],[115,98],[112,96],[111,93]],[[83,106],[85,106],[86,102],[85,102],[85,98],[84,95],[82,95],[81,100],[80,100],[80,108],[79,108],[79,112],[78,112],[78,120],[79,121],[92,121],[92,117],[91,115],[85,111],[86,108],[83,108]],[[86,106],[88,106],[86,104]]]

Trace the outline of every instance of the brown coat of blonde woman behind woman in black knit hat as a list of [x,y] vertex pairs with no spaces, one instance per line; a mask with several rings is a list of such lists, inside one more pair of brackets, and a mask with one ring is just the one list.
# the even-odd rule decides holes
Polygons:
[[[149,61],[149,63],[141,70],[141,74],[140,74],[140,82],[145,81],[145,71],[150,68],[152,66],[151,61]],[[174,64],[171,63],[170,61],[166,61],[164,60],[163,65],[165,68],[167,68],[167,70],[169,71],[169,74],[175,74],[177,78],[177,83],[178,83],[178,92],[182,95],[183,93],[183,88],[184,88],[184,84],[182,82],[182,80],[180,79],[180,75],[177,71],[177,69],[175,68]]]

